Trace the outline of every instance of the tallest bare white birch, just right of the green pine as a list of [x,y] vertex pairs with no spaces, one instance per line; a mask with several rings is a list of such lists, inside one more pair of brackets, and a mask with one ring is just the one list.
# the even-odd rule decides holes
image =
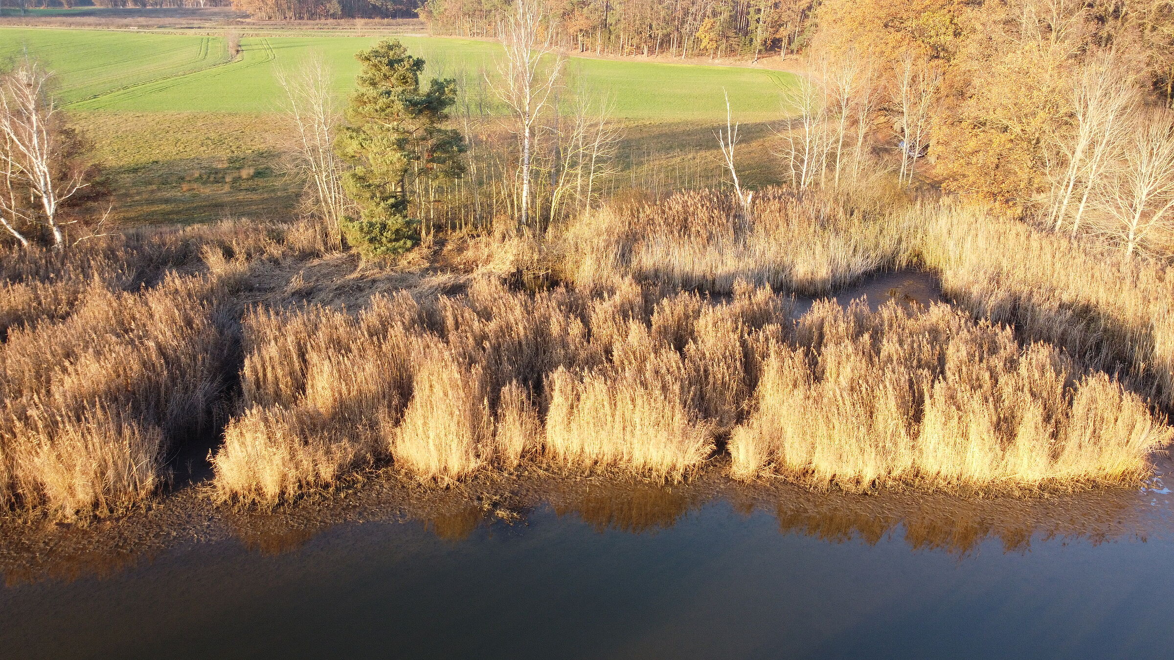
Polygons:
[[500,80],[490,82],[510,108],[512,130],[518,135],[518,227],[529,230],[537,128],[559,85],[565,59],[555,53],[551,31],[545,29],[539,0],[514,0],[501,34],[505,56],[498,65]]

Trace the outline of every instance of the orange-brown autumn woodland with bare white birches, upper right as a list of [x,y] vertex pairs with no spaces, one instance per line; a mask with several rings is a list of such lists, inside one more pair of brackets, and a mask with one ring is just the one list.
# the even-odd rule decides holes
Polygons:
[[1174,247],[1174,4],[824,0],[816,20],[782,149],[798,187],[891,154],[906,187]]

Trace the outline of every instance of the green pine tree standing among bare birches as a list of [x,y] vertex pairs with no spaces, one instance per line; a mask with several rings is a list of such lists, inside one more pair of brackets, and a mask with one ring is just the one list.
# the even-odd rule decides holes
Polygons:
[[385,40],[356,55],[363,63],[351,96],[338,153],[353,166],[343,179],[359,217],[343,220],[348,242],[367,256],[390,256],[417,242],[417,221],[407,216],[416,177],[451,179],[464,174],[465,140],[445,128],[457,101],[452,79],[420,88],[424,60],[407,54],[398,40]]

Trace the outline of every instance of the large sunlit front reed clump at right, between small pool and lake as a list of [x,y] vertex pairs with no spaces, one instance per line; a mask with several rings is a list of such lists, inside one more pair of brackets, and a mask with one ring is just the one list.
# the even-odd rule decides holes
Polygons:
[[731,473],[866,490],[1118,483],[1172,438],[1104,373],[1075,376],[1045,344],[945,305],[819,302],[772,348],[754,412],[730,437]]

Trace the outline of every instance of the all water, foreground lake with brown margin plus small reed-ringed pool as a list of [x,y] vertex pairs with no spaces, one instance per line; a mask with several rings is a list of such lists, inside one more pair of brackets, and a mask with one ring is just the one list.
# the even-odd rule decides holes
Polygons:
[[[837,297],[858,292],[940,299],[910,272]],[[677,486],[387,472],[275,513],[196,485],[117,520],[0,521],[0,658],[1163,658],[1156,465],[986,499],[745,486],[721,459]]]

